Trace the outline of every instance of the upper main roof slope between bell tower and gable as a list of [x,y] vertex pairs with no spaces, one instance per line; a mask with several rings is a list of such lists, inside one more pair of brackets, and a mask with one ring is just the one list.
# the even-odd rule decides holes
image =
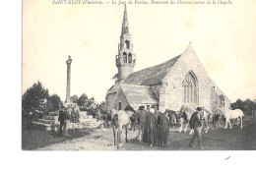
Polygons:
[[129,75],[122,84],[126,85],[159,85],[161,80],[166,76],[168,71],[177,62],[181,55],[176,56],[159,65],[146,68]]

